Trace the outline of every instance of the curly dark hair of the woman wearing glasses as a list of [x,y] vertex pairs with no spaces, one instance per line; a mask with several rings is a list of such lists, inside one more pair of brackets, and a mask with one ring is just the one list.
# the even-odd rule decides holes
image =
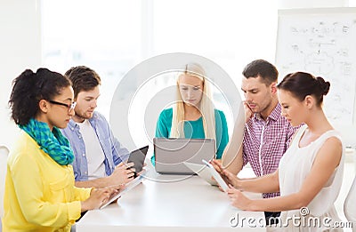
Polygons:
[[38,68],[36,73],[30,69],[23,71],[12,82],[9,100],[15,124],[28,124],[36,116],[40,100],[52,100],[70,85],[69,78],[47,68]]

